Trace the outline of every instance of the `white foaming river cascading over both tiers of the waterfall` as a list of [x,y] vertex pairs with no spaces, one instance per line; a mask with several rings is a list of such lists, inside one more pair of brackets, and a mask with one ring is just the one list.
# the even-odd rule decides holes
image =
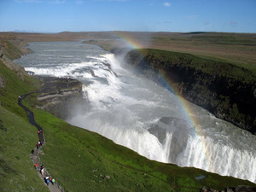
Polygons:
[[[31,48],[34,54],[17,61],[27,71],[70,76],[84,83],[90,110],[74,111],[69,123],[96,131],[151,160],[256,183],[256,137],[252,134],[189,102],[190,113],[184,113],[180,98],[138,77],[96,46],[34,43]],[[188,115],[196,119],[196,125]]]

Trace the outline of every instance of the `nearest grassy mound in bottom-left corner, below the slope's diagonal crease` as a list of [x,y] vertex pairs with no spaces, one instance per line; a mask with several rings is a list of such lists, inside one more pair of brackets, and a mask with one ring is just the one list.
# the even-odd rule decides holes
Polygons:
[[0,191],[49,191],[29,158],[37,142],[32,125],[0,107]]

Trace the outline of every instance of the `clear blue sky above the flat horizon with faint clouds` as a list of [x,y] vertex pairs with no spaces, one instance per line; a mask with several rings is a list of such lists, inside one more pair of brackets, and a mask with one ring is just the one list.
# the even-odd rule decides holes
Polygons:
[[256,32],[256,0],[0,0],[0,32]]

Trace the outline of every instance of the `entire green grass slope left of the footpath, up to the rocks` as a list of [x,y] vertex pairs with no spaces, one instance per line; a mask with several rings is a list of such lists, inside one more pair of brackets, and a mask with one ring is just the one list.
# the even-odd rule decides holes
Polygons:
[[[17,98],[32,91],[32,80],[21,81],[0,61],[0,191],[49,191],[34,170],[29,154],[38,142],[37,130],[26,119]],[[27,86],[28,85],[28,86]]]

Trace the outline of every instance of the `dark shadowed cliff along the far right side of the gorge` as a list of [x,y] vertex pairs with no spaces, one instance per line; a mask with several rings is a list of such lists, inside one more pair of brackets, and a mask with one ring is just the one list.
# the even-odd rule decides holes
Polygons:
[[[166,85],[220,119],[256,134],[256,77],[222,61],[156,49],[135,49],[126,56],[137,73]],[[168,86],[167,86],[168,88]]]

